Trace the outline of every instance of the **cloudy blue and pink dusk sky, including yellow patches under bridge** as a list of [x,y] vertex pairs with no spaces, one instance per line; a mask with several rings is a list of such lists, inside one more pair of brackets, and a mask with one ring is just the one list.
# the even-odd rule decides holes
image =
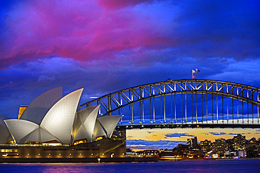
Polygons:
[[[64,95],[84,88],[84,104],[135,85],[191,78],[195,68],[197,78],[260,88],[259,6],[254,0],[0,1],[0,113],[17,118],[21,104],[58,86]],[[178,130],[186,135],[177,140],[167,133],[176,131],[154,139],[174,144],[200,134]],[[153,147],[150,135],[143,136],[129,139]]]

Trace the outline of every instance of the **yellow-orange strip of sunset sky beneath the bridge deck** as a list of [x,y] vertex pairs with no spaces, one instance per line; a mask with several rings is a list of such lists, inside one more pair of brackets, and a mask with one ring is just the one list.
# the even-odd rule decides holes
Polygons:
[[134,151],[144,149],[174,148],[178,144],[187,144],[187,139],[197,137],[197,141],[215,141],[215,139],[231,139],[237,134],[246,136],[246,139],[259,139],[260,130],[252,129],[161,129],[161,130],[127,130],[126,148]]

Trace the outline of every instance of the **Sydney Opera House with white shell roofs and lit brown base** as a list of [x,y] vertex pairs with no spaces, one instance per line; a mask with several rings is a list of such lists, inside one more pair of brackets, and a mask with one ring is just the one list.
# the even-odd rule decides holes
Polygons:
[[63,97],[48,90],[22,106],[18,119],[0,114],[0,158],[123,158],[122,116],[100,116],[100,106],[79,109],[82,89]]

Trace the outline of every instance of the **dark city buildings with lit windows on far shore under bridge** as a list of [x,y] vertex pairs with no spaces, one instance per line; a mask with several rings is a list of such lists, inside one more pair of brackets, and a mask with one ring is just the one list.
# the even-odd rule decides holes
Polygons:
[[[223,158],[230,158],[230,153],[235,153],[235,155],[238,154],[238,151],[247,151],[249,149],[252,149],[253,147],[255,149],[254,155],[258,155],[259,151],[257,148],[257,145],[259,145],[260,139],[255,139],[254,137],[252,139],[247,139],[246,136],[242,134],[237,134],[231,138],[225,139],[223,137],[216,138],[214,140],[208,140],[204,139],[203,141],[199,141],[197,137],[190,137],[186,140],[186,144],[178,144],[178,146],[174,146],[174,148],[148,148],[145,150],[136,150],[127,148],[128,151],[139,151],[138,154],[141,153],[157,153],[157,155],[164,155],[164,151],[166,151],[166,155],[168,156],[174,156],[181,154],[183,158],[187,158],[187,155],[200,155],[203,158],[204,156],[209,156],[212,154],[221,154],[222,156],[226,155],[227,157]],[[182,150],[182,149],[184,150]],[[181,150],[180,150],[181,149]],[[185,151],[186,150],[186,151]],[[157,152],[155,152],[157,151]],[[182,153],[179,153],[181,151]],[[197,152],[202,151],[202,152]],[[213,153],[212,153],[213,151]],[[184,153],[183,153],[184,152]],[[131,153],[129,153],[131,155]],[[166,156],[164,155],[164,156]],[[233,156],[235,156],[233,155]],[[242,157],[245,157],[247,155],[247,152],[245,152],[245,155],[240,155]],[[221,157],[222,157],[221,156]],[[220,158],[221,158],[220,157]],[[232,156],[231,156],[232,157]],[[257,156],[256,156],[257,157]],[[193,158],[193,157],[191,157]],[[207,157],[209,158],[209,157]],[[249,158],[252,158],[252,154],[249,155]],[[195,156],[195,159],[197,159],[197,156]]]

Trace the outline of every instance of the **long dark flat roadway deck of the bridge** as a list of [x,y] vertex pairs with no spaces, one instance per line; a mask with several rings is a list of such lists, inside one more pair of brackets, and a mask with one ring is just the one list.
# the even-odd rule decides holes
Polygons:
[[260,129],[260,124],[140,124],[140,125],[117,125],[118,129],[154,129],[154,128],[252,128]]

